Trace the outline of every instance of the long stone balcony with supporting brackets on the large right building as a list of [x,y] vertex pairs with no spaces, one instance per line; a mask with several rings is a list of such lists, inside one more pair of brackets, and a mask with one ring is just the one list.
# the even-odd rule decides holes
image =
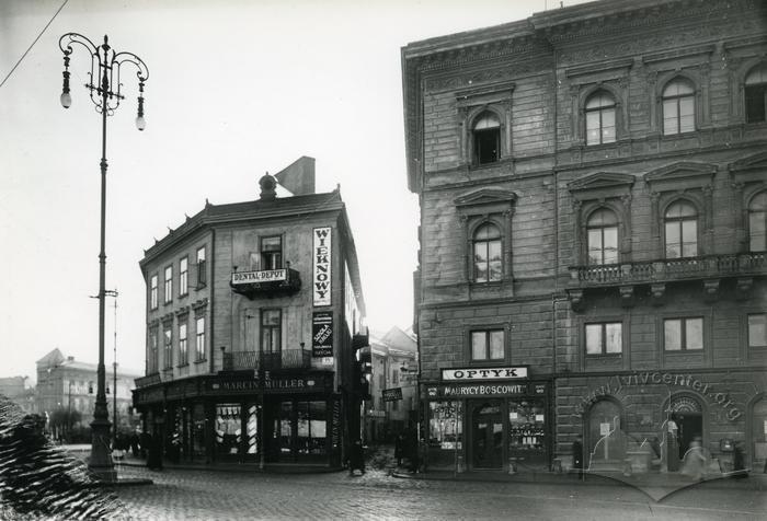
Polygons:
[[662,303],[669,282],[702,280],[705,298],[716,299],[719,280],[737,278],[741,293],[751,290],[753,277],[767,275],[767,254],[708,255],[705,257],[643,260],[637,263],[571,266],[568,293],[573,309],[583,308],[583,291],[592,288],[619,287],[626,305],[633,302],[633,287],[650,285],[655,303]]

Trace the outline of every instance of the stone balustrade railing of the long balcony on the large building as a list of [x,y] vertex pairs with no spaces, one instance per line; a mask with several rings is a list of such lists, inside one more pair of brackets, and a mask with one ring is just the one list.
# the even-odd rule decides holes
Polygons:
[[766,275],[766,256],[765,253],[745,253],[598,266],[571,266],[570,283],[575,287],[616,286]]

